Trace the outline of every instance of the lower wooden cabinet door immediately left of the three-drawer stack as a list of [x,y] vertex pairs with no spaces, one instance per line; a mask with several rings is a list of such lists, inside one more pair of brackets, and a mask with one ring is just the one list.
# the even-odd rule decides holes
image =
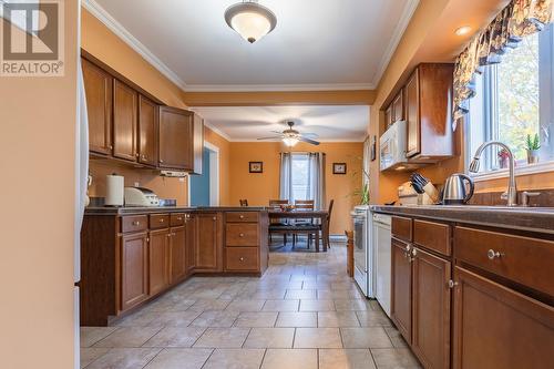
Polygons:
[[196,271],[222,271],[220,223],[219,213],[196,214]]

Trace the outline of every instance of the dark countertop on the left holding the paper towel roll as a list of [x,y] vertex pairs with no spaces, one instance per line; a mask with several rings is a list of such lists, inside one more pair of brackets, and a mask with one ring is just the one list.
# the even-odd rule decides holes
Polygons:
[[264,212],[264,206],[90,206],[85,215],[140,215],[183,212]]

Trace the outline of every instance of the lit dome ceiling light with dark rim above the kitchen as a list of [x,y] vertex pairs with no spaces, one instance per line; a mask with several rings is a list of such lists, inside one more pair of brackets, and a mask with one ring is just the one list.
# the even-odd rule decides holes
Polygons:
[[254,43],[275,29],[277,17],[257,0],[245,0],[225,10],[225,21],[243,39]]

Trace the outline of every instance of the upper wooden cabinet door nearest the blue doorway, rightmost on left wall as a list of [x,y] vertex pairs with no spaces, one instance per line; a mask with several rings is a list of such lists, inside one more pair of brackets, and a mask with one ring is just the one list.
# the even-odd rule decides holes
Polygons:
[[193,153],[193,113],[160,106],[160,158],[158,165],[166,168],[192,171]]

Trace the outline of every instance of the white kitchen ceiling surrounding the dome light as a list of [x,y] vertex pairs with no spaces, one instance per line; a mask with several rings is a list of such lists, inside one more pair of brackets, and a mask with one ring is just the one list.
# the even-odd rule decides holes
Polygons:
[[419,0],[260,0],[277,27],[249,44],[224,20],[240,0],[83,0],[186,91],[373,89]]

